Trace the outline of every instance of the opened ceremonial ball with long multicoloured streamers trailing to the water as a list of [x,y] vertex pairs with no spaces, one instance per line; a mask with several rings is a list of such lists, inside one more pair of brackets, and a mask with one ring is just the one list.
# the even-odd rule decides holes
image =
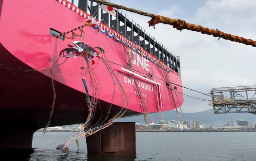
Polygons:
[[[65,57],[65,58],[76,58],[78,56],[81,56],[85,59],[85,61],[87,63],[86,71],[88,71],[88,75],[90,76],[90,90],[91,90],[90,93],[91,94],[89,94],[89,87],[88,87],[86,79],[84,77],[82,77],[82,82],[85,87],[86,102],[87,102],[87,106],[88,106],[87,120],[82,125],[82,127],[80,129],[78,129],[75,133],[73,133],[72,137],[69,140],[67,140],[64,144],[61,144],[60,146],[57,147],[57,150],[61,150],[61,151],[67,151],[67,146],[71,142],[74,143],[74,140],[75,140],[75,142],[77,142],[82,139],[85,139],[87,136],[90,136],[90,135],[94,134],[95,132],[97,132],[107,126],[110,126],[111,124],[116,122],[125,113],[125,111],[127,110],[127,106],[128,106],[128,99],[127,99],[125,90],[122,87],[120,81],[118,80],[115,72],[109,65],[108,61],[105,61],[106,58],[101,59],[101,58],[103,58],[102,54],[104,54],[104,52],[105,52],[104,49],[102,49],[100,47],[89,46],[82,41],[73,41],[73,45],[75,47],[69,47],[69,48],[66,48],[66,49],[63,49],[62,51],[60,51],[59,56]],[[71,46],[71,45],[69,45],[69,46]],[[114,117],[108,118],[109,114],[110,114],[110,109],[112,107],[112,102],[114,100],[114,93],[115,93],[115,91],[114,91],[113,95],[112,95],[111,102],[110,102],[111,105],[108,108],[107,112],[104,114],[104,117],[102,117],[100,120],[96,121],[95,124],[92,124],[93,117],[94,117],[96,109],[97,109],[98,99],[99,99],[99,88],[98,88],[98,84],[97,84],[97,79],[96,79],[96,76],[93,73],[93,70],[91,68],[91,65],[95,64],[95,61],[93,60],[94,57],[101,59],[101,61],[105,65],[106,69],[108,70],[110,76],[112,77],[114,86],[115,86],[115,84],[117,84],[119,86],[120,93],[121,93],[121,109],[120,109],[120,111],[116,112],[116,115]],[[115,87],[114,87],[114,89],[115,89]]]

